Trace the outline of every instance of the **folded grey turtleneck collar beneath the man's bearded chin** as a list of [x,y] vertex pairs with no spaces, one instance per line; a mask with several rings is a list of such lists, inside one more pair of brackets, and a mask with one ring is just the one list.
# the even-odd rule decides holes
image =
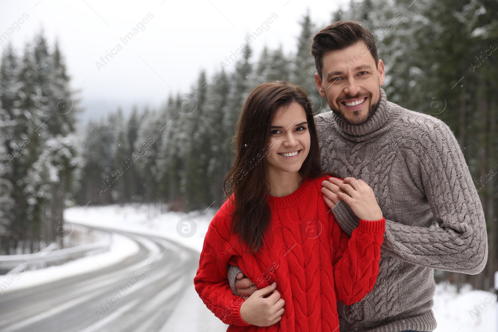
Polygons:
[[367,140],[373,136],[377,136],[387,129],[384,124],[390,115],[390,108],[387,105],[387,98],[385,96],[384,89],[380,88],[380,98],[377,106],[377,110],[373,115],[362,124],[351,124],[344,118],[333,112],[333,117],[335,120],[334,125],[337,127],[337,131],[345,138],[360,142]]

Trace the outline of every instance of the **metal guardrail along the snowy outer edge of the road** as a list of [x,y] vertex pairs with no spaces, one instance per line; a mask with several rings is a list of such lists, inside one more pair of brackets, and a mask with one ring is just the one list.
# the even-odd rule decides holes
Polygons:
[[81,258],[90,254],[108,251],[112,241],[99,241],[52,251],[40,251],[33,254],[0,255],[0,270],[6,271],[27,262],[30,269],[39,269],[50,265]]

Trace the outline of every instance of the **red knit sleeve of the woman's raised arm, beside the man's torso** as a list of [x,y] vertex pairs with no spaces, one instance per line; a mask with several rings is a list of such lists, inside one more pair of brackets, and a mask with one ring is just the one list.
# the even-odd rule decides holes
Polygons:
[[361,301],[375,286],[385,219],[360,220],[351,237],[332,215],[330,219],[333,222],[331,246],[336,297],[345,305],[352,305]]

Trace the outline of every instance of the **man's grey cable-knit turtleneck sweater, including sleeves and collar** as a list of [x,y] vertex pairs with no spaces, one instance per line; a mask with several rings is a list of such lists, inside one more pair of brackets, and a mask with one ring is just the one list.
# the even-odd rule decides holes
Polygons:
[[[488,257],[481,201],[462,151],[441,120],[387,102],[363,124],[317,115],[321,165],[373,188],[386,219],[372,292],[338,303],[340,331],[433,331],[434,270],[481,272]],[[352,233],[358,218],[343,201],[332,209]],[[229,269],[233,290],[238,267]]]

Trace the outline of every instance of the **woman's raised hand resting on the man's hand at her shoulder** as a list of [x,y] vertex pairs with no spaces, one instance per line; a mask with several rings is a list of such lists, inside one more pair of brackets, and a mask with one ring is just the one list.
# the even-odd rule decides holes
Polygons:
[[[365,181],[361,179],[356,180],[351,177],[345,178],[344,181],[337,178],[330,178],[329,181],[330,184],[324,184],[322,192],[329,189],[334,195],[334,198],[337,196],[338,199],[343,200],[349,205],[351,211],[353,211],[359,219],[371,221],[382,219],[382,211],[377,204],[373,190]],[[329,201],[331,200],[329,199]],[[327,200],[325,200],[325,202],[329,203]],[[333,203],[334,205],[337,204],[337,202]],[[330,204],[327,205],[330,207]]]

